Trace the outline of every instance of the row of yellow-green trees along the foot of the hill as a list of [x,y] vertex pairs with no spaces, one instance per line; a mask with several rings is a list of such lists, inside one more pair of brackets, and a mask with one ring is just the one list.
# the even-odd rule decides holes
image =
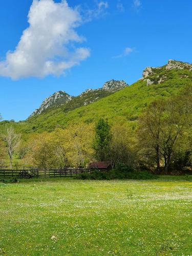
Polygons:
[[[191,169],[192,87],[168,100],[152,102],[131,122],[100,119],[96,124],[78,123],[54,132],[17,135],[12,127],[1,136],[0,165],[86,167],[92,161],[111,161],[114,168],[151,169],[157,173]],[[115,123],[115,122],[113,122]]]

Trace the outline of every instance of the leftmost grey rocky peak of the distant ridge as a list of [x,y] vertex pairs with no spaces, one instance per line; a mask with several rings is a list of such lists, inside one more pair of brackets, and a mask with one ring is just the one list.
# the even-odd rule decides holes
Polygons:
[[49,98],[45,99],[42,102],[42,104],[40,105],[40,107],[38,109],[36,109],[30,115],[30,117],[35,116],[35,115],[39,115],[43,111],[51,108],[52,106],[58,106],[58,105],[61,105],[63,103],[69,102],[72,98],[73,98],[73,96],[70,96],[69,94],[67,94],[64,91],[56,92],[56,93],[52,94]]

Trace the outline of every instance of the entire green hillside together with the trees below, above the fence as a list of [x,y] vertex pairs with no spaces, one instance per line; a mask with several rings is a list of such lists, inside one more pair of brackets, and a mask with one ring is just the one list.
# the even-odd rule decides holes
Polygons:
[[[164,66],[148,77],[151,86],[141,79],[109,96],[84,93],[24,122],[0,122],[1,166],[87,167],[106,160],[116,169],[190,173],[192,72]],[[97,93],[102,99],[79,108]]]

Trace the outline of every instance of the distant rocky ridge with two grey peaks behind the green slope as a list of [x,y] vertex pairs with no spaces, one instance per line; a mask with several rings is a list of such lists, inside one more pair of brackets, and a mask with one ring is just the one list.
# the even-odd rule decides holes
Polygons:
[[111,80],[105,82],[102,88],[87,89],[77,97],[73,97],[66,92],[59,91],[51,95],[49,98],[45,99],[40,105],[39,109],[35,110],[30,115],[30,117],[39,115],[42,112],[50,108],[57,107],[59,105],[65,105],[66,111],[73,110],[79,108],[80,106],[91,104],[127,86],[128,84],[125,81]]

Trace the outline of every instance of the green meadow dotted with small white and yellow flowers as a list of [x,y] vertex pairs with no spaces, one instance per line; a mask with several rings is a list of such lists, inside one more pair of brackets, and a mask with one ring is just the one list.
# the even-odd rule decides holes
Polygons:
[[191,255],[191,190],[192,177],[0,183],[0,255]]

